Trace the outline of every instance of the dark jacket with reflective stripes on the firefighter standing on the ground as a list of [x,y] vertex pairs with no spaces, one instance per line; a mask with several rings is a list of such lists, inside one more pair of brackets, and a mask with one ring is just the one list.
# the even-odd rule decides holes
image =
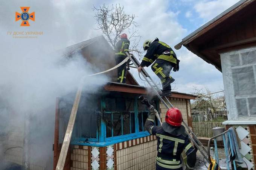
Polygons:
[[163,168],[179,169],[182,167],[181,153],[184,150],[187,155],[187,168],[194,169],[197,151],[190,143],[185,127],[174,127],[166,122],[162,126],[154,126],[152,113],[157,111],[154,109],[150,112],[145,128],[151,135],[157,137],[156,163]]

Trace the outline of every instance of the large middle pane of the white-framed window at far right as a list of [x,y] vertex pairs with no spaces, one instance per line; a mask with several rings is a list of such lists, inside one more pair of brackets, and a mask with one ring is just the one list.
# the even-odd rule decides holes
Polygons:
[[235,96],[256,94],[253,67],[232,69]]

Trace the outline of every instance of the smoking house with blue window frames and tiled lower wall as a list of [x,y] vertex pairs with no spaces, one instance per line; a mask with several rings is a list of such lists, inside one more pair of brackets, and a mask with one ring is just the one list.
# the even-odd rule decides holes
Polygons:
[[[99,66],[94,61],[101,59],[100,71],[115,65],[114,52],[103,36],[66,50],[66,56],[72,57],[79,52],[96,67]],[[112,77],[112,82],[106,82],[98,94],[82,94],[64,169],[154,170],[157,140],[143,127],[149,112],[138,100],[140,94],[147,95],[152,90],[139,86],[129,71],[127,84],[116,83],[116,70],[107,75]],[[167,109],[163,103],[155,96],[148,97],[165,121]],[[192,127],[190,99],[195,99],[195,96],[173,92],[168,98]],[[69,96],[58,98],[56,102],[54,169],[73,105],[73,100],[68,99]],[[158,124],[157,119],[155,124]]]

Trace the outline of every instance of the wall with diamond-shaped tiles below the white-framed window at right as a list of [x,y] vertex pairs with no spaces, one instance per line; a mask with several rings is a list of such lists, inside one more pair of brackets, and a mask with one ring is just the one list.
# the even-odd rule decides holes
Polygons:
[[[250,129],[248,125],[232,125],[235,127],[239,139],[241,140],[240,153],[244,162],[247,164],[243,166],[248,167],[248,170],[255,170],[254,158],[253,158],[253,145],[251,140]],[[230,126],[227,126],[229,128]],[[256,143],[255,143],[256,144]]]

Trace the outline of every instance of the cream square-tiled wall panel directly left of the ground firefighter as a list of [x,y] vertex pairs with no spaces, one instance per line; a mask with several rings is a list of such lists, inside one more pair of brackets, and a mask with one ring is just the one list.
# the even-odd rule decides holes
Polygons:
[[[152,137],[149,138],[153,139]],[[135,145],[128,142],[128,145],[126,143],[125,146],[118,147],[118,144],[115,144],[116,165],[114,170],[155,170],[157,140],[146,142],[144,139],[145,143],[143,143],[142,139],[133,140],[133,143],[142,141],[142,143]]]

